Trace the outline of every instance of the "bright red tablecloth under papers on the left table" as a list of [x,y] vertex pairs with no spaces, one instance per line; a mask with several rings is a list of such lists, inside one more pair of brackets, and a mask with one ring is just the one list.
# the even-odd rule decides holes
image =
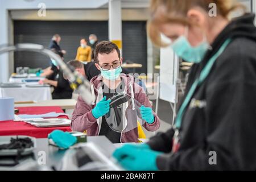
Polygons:
[[[55,111],[56,113],[63,113],[61,107],[17,107],[19,114],[45,114]],[[67,118],[63,115],[58,118]],[[39,128],[32,126],[23,121],[0,121],[0,136],[7,135],[27,135],[35,138],[47,138],[48,134],[53,130],[71,131],[71,127],[45,127]]]

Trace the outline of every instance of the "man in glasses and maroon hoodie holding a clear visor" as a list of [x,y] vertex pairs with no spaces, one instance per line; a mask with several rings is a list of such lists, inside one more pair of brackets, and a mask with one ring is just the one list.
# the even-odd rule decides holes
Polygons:
[[120,57],[118,47],[109,41],[100,42],[94,49],[94,57],[95,65],[101,72],[100,76],[90,80],[96,103],[88,105],[79,96],[72,114],[72,130],[87,131],[90,136],[105,135],[112,143],[139,142],[137,119],[132,121],[136,124],[132,130],[123,132],[129,125],[127,123],[127,125],[122,125],[123,117],[127,117],[127,107],[114,108],[114,120],[121,123],[122,130],[119,130],[121,132],[113,130],[113,127],[106,121],[105,115],[110,111],[108,99],[121,92],[133,96],[142,105],[139,109],[142,119],[146,121],[143,127],[148,131],[157,130],[160,126],[159,118],[152,111],[143,88],[134,82],[133,76],[121,73],[122,57]]

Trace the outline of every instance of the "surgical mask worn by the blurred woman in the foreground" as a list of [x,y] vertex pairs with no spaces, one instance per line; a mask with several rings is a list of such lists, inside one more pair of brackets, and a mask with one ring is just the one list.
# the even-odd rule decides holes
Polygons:
[[172,49],[183,60],[191,63],[200,63],[205,53],[209,49],[209,43],[207,42],[206,36],[204,35],[204,40],[199,44],[199,46],[192,47],[188,42],[188,27],[185,29],[185,35],[180,36],[174,43],[171,44]]

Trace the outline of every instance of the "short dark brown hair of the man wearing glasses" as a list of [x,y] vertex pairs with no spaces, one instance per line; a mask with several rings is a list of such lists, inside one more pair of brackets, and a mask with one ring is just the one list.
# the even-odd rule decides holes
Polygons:
[[96,63],[98,63],[98,54],[103,54],[106,53],[107,55],[111,52],[113,52],[114,50],[117,51],[118,57],[120,59],[120,50],[117,47],[116,44],[114,44],[113,42],[110,41],[102,41],[100,43],[97,44],[97,46],[94,49],[94,61]]

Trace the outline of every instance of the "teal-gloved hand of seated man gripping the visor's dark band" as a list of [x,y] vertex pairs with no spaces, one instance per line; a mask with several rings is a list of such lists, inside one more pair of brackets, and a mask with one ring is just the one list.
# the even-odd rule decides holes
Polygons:
[[98,102],[96,106],[93,108],[92,110],[93,117],[98,119],[103,115],[107,114],[110,109],[110,106],[109,106],[110,102],[111,100],[106,101],[106,96],[104,96],[102,100]]

